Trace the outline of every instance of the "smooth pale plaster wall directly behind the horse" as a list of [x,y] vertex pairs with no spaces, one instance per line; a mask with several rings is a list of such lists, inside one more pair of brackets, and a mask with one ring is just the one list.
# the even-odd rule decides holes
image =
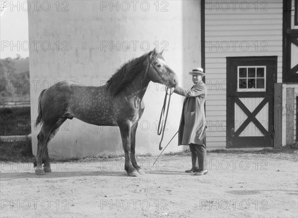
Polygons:
[[[47,11],[48,3],[28,11],[29,41],[39,41],[30,49],[30,79],[36,84],[31,86],[32,120],[37,117],[42,89],[62,80],[102,85],[122,64],[154,47],[165,50],[163,57],[177,73],[180,85],[191,86],[186,72],[201,64],[200,1],[138,1],[135,5],[125,1],[128,5],[123,1],[81,0],[64,1],[68,5],[60,4],[59,9],[58,1],[47,2],[51,4]],[[162,85],[150,82],[145,94],[146,108],[136,138],[139,154],[160,152],[156,127],[164,97],[161,89]],[[164,144],[178,130],[182,102],[182,97],[173,95]],[[34,154],[39,130],[32,125]],[[167,151],[179,149],[176,138]],[[123,153],[116,127],[97,127],[77,119],[62,125],[49,150],[57,158]]]

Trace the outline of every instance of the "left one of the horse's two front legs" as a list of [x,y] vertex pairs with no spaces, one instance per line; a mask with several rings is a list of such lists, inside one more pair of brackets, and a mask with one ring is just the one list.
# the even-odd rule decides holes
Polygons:
[[131,161],[131,122],[124,121],[119,123],[122,145],[125,155],[125,165],[124,168],[129,176],[140,176],[138,171],[133,167]]

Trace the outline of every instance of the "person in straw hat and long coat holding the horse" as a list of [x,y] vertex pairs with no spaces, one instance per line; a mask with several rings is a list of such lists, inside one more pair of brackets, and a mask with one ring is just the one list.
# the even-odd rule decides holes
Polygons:
[[194,86],[184,89],[177,86],[175,93],[185,96],[178,133],[178,145],[189,145],[191,151],[192,168],[187,173],[204,175],[208,173],[206,161],[206,118],[204,103],[207,96],[207,88],[202,81],[202,68],[189,72],[192,75]]

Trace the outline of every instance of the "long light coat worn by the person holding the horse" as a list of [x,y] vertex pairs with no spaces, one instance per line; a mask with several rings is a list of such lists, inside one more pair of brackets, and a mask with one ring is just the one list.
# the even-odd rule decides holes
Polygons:
[[178,145],[206,144],[206,118],[204,103],[207,88],[199,81],[191,89],[177,86],[175,93],[185,96],[178,133]]

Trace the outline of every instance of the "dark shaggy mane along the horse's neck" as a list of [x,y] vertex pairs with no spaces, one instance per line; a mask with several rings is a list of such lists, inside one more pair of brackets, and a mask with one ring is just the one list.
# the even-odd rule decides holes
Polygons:
[[139,58],[135,58],[114,73],[106,83],[106,88],[112,95],[118,94],[124,90],[135,78],[135,76],[145,71],[148,65],[145,65],[144,61],[148,58],[151,52],[144,54]]

